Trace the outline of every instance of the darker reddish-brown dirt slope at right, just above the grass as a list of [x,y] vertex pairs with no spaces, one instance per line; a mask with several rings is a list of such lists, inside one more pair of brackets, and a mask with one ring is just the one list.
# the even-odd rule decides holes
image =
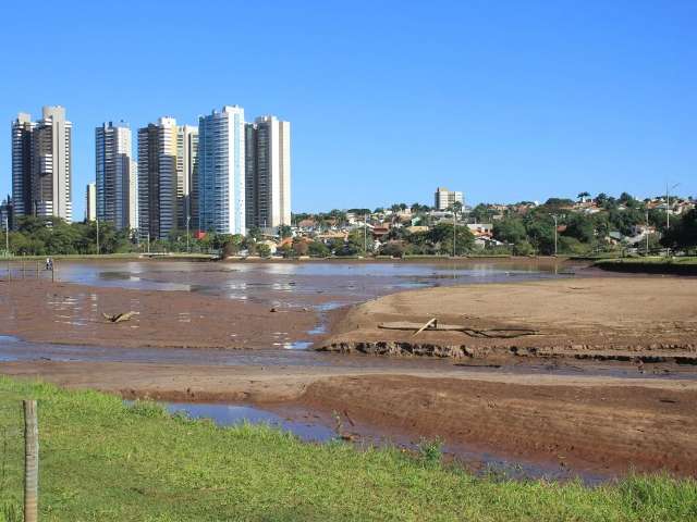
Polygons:
[[[625,383],[627,384],[627,383]],[[697,389],[501,383],[405,375],[311,384],[301,401],[357,430],[440,437],[451,448],[588,473],[697,474]],[[348,424],[347,422],[345,423]],[[417,437],[414,437],[418,439]]]

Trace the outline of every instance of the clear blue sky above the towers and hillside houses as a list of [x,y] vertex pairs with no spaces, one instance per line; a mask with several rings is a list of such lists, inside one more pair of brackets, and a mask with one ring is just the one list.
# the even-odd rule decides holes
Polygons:
[[[697,1],[61,1],[0,13],[10,122],[62,104],[74,215],[94,128],[223,104],[293,125],[293,209],[578,191],[697,196]],[[135,144],[134,144],[135,145]]]

